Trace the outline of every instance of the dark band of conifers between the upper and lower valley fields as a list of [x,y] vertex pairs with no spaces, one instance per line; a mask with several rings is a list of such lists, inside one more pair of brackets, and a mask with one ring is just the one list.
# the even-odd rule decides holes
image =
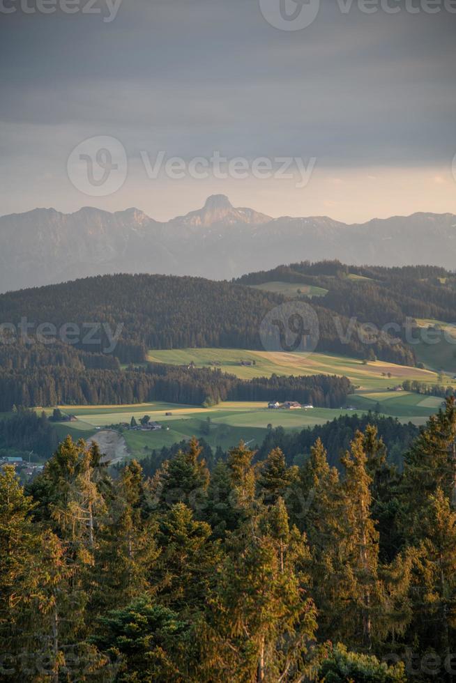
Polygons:
[[65,366],[0,367],[0,412],[13,405],[121,405],[166,401],[213,406],[220,401],[296,400],[337,408],[352,391],[345,377],[275,376],[242,380],[220,369],[150,363],[125,371]]

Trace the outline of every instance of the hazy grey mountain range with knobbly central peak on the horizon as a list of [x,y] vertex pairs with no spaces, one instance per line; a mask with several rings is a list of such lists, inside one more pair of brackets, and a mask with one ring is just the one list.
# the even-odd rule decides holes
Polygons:
[[456,216],[418,213],[347,225],[328,217],[272,219],[224,195],[160,223],[131,208],[54,209],[0,217],[0,291],[105,273],[238,277],[290,261],[456,264]]

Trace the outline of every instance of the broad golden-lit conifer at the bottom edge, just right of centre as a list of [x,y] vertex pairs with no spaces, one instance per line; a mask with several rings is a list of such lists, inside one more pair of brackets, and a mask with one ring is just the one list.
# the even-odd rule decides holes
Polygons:
[[310,672],[316,612],[296,571],[305,543],[297,535],[283,502],[231,535],[208,615],[212,680],[265,683]]

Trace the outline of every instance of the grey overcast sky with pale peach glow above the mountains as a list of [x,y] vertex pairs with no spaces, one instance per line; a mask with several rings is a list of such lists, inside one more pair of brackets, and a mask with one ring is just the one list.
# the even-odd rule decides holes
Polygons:
[[[15,10],[0,13],[0,214],[137,206],[167,220],[214,193],[273,216],[456,213],[456,2],[429,14],[409,0],[411,14],[389,0],[400,12],[367,14],[321,0],[312,24],[285,31],[264,16],[274,23],[280,0],[123,0],[115,16],[106,0],[102,14],[83,14],[88,0],[72,15],[25,13],[33,1],[0,0]],[[67,171],[73,149],[99,136],[127,158],[105,196]],[[207,178],[150,178],[144,158],[160,151],[242,157],[248,177],[209,166]],[[253,177],[260,157],[313,171],[304,187],[299,174]]]

